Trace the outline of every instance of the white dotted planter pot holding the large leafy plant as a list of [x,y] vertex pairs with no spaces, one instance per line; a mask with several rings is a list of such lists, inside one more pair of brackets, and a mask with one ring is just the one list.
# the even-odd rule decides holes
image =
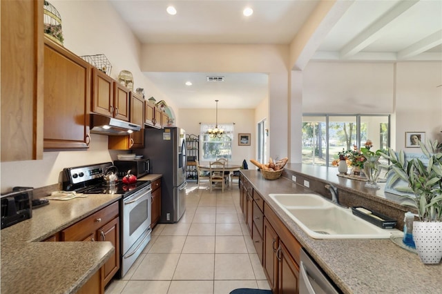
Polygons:
[[441,262],[442,222],[413,222],[413,240],[424,264]]

